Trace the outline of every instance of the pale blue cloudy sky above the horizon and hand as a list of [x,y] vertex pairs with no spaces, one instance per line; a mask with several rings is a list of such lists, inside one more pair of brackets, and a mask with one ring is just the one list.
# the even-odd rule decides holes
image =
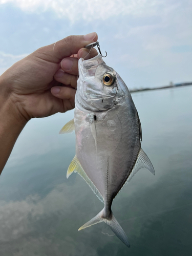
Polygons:
[[0,74],[39,47],[97,32],[130,89],[192,81],[191,0],[0,0]]

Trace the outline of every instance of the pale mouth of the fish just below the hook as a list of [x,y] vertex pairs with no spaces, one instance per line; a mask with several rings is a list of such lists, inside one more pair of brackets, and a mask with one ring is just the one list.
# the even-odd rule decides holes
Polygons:
[[79,68],[79,77],[95,76],[97,67],[104,62],[102,56],[96,55],[91,59],[84,60],[83,58],[79,59],[78,68]]

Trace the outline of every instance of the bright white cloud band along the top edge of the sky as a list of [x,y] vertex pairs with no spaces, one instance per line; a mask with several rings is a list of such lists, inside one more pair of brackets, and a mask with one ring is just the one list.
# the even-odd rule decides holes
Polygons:
[[0,4],[11,3],[27,12],[53,10],[58,17],[66,17],[72,22],[78,19],[106,20],[119,15],[149,16],[158,13],[165,5],[160,0],[0,0]]

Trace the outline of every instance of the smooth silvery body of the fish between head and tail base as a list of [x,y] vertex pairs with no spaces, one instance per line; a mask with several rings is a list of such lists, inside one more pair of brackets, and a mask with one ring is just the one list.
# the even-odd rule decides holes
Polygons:
[[[95,116],[93,134],[90,116]],[[127,105],[106,112],[75,109],[76,156],[104,202],[112,203],[137,159],[140,149],[138,118]]]

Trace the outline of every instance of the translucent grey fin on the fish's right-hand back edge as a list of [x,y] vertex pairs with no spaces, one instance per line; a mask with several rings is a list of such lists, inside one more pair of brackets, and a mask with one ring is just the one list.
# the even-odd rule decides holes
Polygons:
[[[148,170],[150,170],[150,172],[155,175],[155,170],[153,167],[153,164],[151,163],[150,159],[147,157],[147,155],[144,153],[144,151],[142,150],[142,148],[140,148],[139,154],[137,156],[137,160],[135,162],[135,165],[132,169],[132,172],[130,174],[130,176],[127,178],[127,180],[125,181],[123,187],[133,178],[133,176],[138,172],[138,170],[140,170],[141,168],[146,168]],[[122,187],[122,188],[123,188]],[[121,189],[122,189],[121,188]]]

